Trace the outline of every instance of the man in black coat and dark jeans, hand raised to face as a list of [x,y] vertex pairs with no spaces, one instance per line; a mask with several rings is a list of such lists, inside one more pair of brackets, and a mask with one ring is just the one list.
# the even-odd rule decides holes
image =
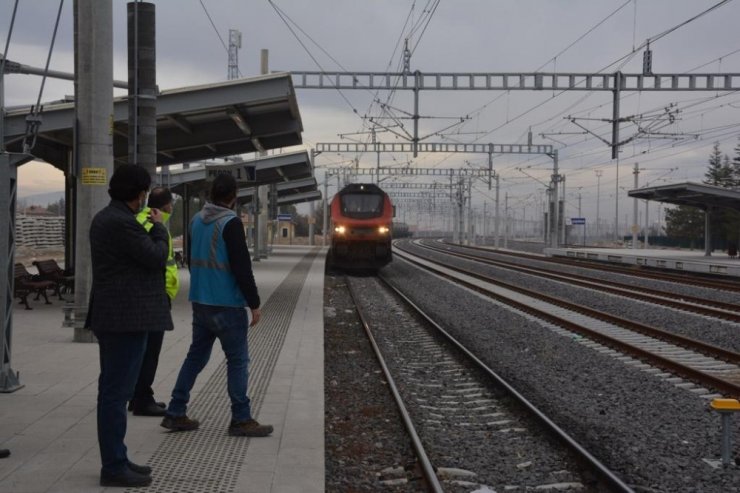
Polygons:
[[140,166],[122,165],[111,177],[111,201],[90,226],[92,291],[88,326],[100,346],[98,443],[101,486],[151,483],[151,468],[128,460],[126,403],[146,348],[147,332],[171,330],[164,270],[169,253],[162,213],[151,211],[147,232],[136,220],[151,184]]

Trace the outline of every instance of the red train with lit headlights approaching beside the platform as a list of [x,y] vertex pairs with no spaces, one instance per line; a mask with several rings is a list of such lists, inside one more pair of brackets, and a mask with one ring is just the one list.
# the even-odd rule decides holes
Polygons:
[[331,201],[330,261],[335,267],[376,269],[392,260],[393,205],[377,185],[353,183]]

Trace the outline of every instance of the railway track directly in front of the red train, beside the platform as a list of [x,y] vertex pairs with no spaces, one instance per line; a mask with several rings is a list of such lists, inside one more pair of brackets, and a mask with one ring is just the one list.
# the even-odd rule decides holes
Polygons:
[[427,491],[632,491],[393,286],[347,283]]

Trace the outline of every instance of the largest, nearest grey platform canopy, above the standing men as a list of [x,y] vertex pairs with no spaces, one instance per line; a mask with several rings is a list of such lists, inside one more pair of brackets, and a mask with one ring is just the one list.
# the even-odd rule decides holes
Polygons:
[[[30,108],[6,113],[10,152],[22,152]],[[72,159],[74,102],[44,105],[33,157],[67,172]],[[299,145],[301,122],[288,73],[162,91],[157,96],[157,164],[246,154]],[[127,162],[128,97],[114,99],[113,156]]]

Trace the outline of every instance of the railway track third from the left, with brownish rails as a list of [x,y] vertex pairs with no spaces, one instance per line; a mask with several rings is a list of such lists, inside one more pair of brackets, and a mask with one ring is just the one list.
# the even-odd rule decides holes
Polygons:
[[[604,281],[573,273],[563,273],[560,271],[546,269],[535,266],[522,266],[503,260],[496,260],[487,256],[483,251],[478,249],[461,248],[457,245],[450,245],[439,242],[416,242],[417,246],[432,251],[444,253],[457,258],[473,260],[486,265],[508,269],[523,274],[531,274],[537,277],[560,281],[570,285],[581,286],[595,291],[609,293],[612,295],[623,296],[645,303],[652,303],[659,306],[665,306],[677,310],[696,313],[707,317],[714,317],[721,320],[740,323],[740,305],[735,303],[726,303],[698,296],[688,296],[684,294],[672,293],[665,290],[651,289],[644,286],[637,289],[634,285],[621,283],[617,281]],[[491,254],[490,251],[487,252]],[[537,259],[541,260],[541,259]],[[684,280],[686,282],[686,280]]]

